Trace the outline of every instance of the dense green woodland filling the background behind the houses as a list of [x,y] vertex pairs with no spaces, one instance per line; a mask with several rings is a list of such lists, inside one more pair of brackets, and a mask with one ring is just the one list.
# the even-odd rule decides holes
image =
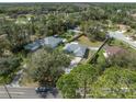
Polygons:
[[[80,26],[93,42],[104,41],[110,23],[136,27],[136,20],[131,16],[135,3],[16,3],[1,4],[0,10],[9,18],[15,15],[11,21],[5,15],[1,15],[0,20],[0,34],[7,34],[7,39],[12,47],[15,46],[15,50],[30,43],[32,35],[61,35],[76,26]],[[31,14],[30,20],[26,13]],[[20,19],[24,19],[25,24],[16,24]]]

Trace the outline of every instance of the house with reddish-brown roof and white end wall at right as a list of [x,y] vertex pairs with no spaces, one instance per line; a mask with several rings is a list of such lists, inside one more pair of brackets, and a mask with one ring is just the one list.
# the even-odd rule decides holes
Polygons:
[[118,47],[118,46],[106,46],[105,53],[103,53],[105,58],[112,57],[116,54],[125,53],[125,49]]

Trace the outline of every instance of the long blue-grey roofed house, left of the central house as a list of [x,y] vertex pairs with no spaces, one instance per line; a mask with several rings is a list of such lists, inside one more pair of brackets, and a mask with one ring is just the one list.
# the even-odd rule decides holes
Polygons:
[[63,43],[63,38],[49,36],[45,37],[44,39],[37,39],[31,44],[27,44],[26,46],[24,46],[24,48],[32,52],[38,49],[41,46],[55,48],[60,43]]

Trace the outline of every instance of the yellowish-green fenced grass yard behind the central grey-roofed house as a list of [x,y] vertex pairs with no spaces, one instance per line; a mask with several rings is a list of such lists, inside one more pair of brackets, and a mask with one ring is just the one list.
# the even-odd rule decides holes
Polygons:
[[92,47],[97,47],[102,44],[102,42],[90,42],[89,38],[84,35],[79,37],[77,41],[79,42],[79,44],[82,44],[86,46],[92,46]]

